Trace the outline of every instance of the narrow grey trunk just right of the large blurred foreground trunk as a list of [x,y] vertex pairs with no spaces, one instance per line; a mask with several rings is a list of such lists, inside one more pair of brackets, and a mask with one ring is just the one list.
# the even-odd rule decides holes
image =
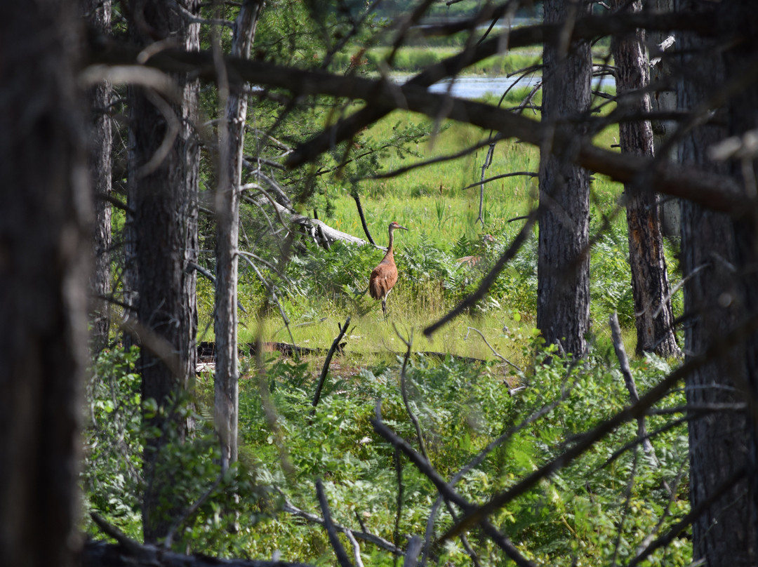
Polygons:
[[[111,0],[86,0],[82,5],[89,26],[98,33],[111,31]],[[92,351],[108,345],[111,317],[108,302],[111,293],[111,205],[103,197],[111,193],[111,85],[107,81],[92,86],[88,92],[89,178],[95,194],[95,224],[92,231],[94,266],[89,291],[92,296]]]

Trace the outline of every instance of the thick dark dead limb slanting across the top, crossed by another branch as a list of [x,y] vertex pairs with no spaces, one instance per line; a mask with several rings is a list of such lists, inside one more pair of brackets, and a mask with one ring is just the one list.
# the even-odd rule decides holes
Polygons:
[[[682,14],[676,15],[681,18]],[[628,16],[625,17],[624,21],[627,19]],[[662,19],[669,20],[668,17]],[[613,17],[600,17],[599,20],[608,20],[604,22],[609,27],[609,30],[606,30],[607,33],[614,31],[614,23],[616,26],[620,25],[619,20],[614,20]],[[584,20],[578,20],[575,30],[584,30],[583,22]],[[690,25],[694,25],[691,18],[681,18],[679,23],[682,22],[689,22]],[[587,23],[587,29],[594,30],[595,25],[600,24],[593,20],[592,25]],[[655,27],[654,23],[651,25]],[[509,37],[524,29],[512,30]],[[125,56],[124,52],[119,55],[122,58]],[[105,58],[107,59],[107,57]],[[465,60],[468,64],[468,58]],[[515,137],[534,146],[539,146],[545,135],[544,125],[531,119],[511,114],[503,109],[493,108],[493,106],[485,103],[427,92],[426,86],[428,84],[449,76],[449,66],[455,67],[455,61],[447,60],[447,63],[437,64],[403,86],[391,85],[387,80],[375,81],[362,77],[341,77],[321,71],[282,67],[265,61],[247,61],[239,58],[227,58],[226,61],[227,65],[235,71],[240,79],[249,80],[252,83],[278,86],[300,95],[347,96],[364,99],[369,103],[368,109],[352,114],[332,129],[327,130],[328,135],[324,143],[313,139],[303,146],[302,152],[298,153],[295,150],[290,154],[287,162],[290,167],[307,161],[306,158],[311,159],[311,155],[318,155],[321,151],[332,147],[334,143],[343,140],[344,138],[340,138],[340,132],[336,132],[334,128],[343,128],[342,125],[348,124],[344,128],[347,128],[350,136],[352,136],[362,127],[387,114],[392,108],[407,108],[431,117],[437,117],[440,112],[444,111],[443,114],[453,120],[497,130],[505,138]],[[461,61],[458,63],[460,64]],[[167,70],[186,70],[187,66],[199,67],[200,76],[208,79],[207,69],[210,61],[208,61],[208,55],[203,53],[171,50],[156,55],[148,61],[148,64]],[[211,77],[215,77],[215,74],[211,74]],[[727,96],[728,92],[734,88],[736,87],[729,86],[729,89],[725,89],[722,96]],[[398,93],[400,93],[400,97],[398,97]],[[553,147],[557,149],[568,143],[572,143],[572,140],[556,139]],[[650,158],[620,155],[617,152],[593,146],[588,140],[581,143],[576,161],[590,171],[606,174],[621,183],[631,183],[638,176],[647,175],[650,183],[645,186],[644,190],[656,190],[659,193],[689,199],[714,211],[724,211],[739,216],[744,215],[746,209],[749,209],[751,205],[751,202],[744,198],[741,187],[736,186],[731,177],[697,171],[694,168],[679,168],[668,163],[659,164]],[[638,188],[637,190],[642,189]]]

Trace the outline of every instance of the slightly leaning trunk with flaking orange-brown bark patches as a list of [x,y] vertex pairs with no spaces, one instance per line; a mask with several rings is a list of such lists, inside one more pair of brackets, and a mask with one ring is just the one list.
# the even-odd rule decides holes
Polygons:
[[[613,0],[615,10],[642,11],[642,0]],[[618,111],[628,116],[650,113],[650,83],[645,55],[645,33],[613,36],[612,52],[616,68]],[[621,151],[652,158],[653,129],[650,121],[622,121],[619,124]],[[655,352],[660,356],[679,356],[674,334],[674,315],[669,298],[669,274],[663,255],[663,237],[658,216],[657,193],[638,186],[640,179],[625,186],[626,222],[629,235],[631,290],[634,296],[634,323],[637,327],[637,354]],[[635,186],[637,184],[637,186]]]

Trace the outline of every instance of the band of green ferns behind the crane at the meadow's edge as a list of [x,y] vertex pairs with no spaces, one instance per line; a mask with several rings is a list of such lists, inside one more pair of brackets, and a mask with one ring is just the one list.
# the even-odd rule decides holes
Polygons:
[[[400,285],[410,290],[417,302],[437,297],[440,311],[456,305],[473,292],[484,274],[515,237],[515,229],[494,233],[493,243],[474,243],[465,235],[449,248],[440,247],[421,235],[418,240],[402,245],[396,251],[395,262],[402,273]],[[475,265],[459,262],[459,258],[478,252]],[[280,295],[289,298],[288,315],[303,314],[303,305],[319,298],[340,313],[365,313],[374,305],[365,295],[368,274],[381,255],[371,246],[356,246],[336,242],[330,249],[309,246],[304,253],[293,255],[287,265],[287,280]],[[240,295],[255,304],[255,294],[262,291],[257,274],[240,265]],[[628,263],[628,240],[625,227],[612,226],[593,248],[590,262],[592,274],[591,315],[594,321],[605,324],[609,313],[618,312],[622,324],[634,325],[634,300],[631,294],[631,274]],[[275,277],[264,271],[268,277]],[[208,288],[210,291],[210,288]],[[203,295],[201,290],[200,296]],[[497,277],[487,296],[476,305],[477,313],[508,310],[519,318],[532,321],[537,309],[537,239],[530,238]],[[321,305],[321,309],[326,309]],[[422,311],[424,307],[421,307]],[[429,310],[426,310],[429,312]],[[436,312],[436,311],[435,311]]]

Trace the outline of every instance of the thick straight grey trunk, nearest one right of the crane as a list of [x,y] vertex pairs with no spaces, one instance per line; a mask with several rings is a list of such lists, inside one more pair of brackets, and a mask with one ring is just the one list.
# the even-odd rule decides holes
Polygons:
[[[571,27],[585,2],[545,0],[545,23]],[[554,128],[540,147],[537,327],[548,343],[584,356],[590,326],[590,175],[572,163],[590,105],[590,44],[544,45],[542,120]]]

